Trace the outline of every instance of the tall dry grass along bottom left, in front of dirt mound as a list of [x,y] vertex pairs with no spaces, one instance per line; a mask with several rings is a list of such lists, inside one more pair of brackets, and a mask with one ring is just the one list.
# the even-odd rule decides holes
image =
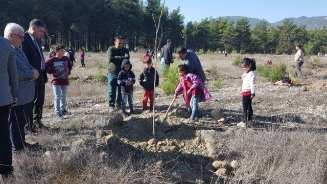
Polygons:
[[154,159],[135,160],[101,155],[81,146],[49,156],[25,152],[15,158],[16,179],[6,183],[170,183],[168,173],[156,167]]

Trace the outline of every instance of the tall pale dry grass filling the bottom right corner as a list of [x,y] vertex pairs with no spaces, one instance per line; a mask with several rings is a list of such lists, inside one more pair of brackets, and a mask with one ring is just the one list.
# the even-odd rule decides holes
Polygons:
[[242,165],[230,183],[326,183],[326,138],[318,130],[239,131],[228,148]]

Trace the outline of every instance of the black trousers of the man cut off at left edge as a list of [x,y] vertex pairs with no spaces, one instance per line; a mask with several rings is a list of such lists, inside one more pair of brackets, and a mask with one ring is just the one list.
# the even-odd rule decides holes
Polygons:
[[13,172],[12,148],[9,138],[10,105],[0,107],[0,174],[8,175]]

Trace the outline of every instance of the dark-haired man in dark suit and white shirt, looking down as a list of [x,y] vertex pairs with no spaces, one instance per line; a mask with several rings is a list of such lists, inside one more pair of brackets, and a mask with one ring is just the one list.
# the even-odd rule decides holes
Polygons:
[[39,128],[46,128],[42,122],[42,110],[44,103],[45,83],[48,82],[46,77],[44,56],[40,38],[45,32],[46,26],[39,19],[33,19],[30,22],[30,27],[24,34],[24,42],[22,42],[22,51],[25,53],[30,64],[36,68],[39,77],[36,79],[35,100],[28,104],[28,121],[29,129],[33,132],[33,124]]

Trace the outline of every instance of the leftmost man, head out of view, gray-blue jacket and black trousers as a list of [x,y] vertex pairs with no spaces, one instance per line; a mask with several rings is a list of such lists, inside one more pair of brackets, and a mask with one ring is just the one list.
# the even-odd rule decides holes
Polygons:
[[3,178],[13,172],[9,138],[10,107],[17,104],[17,67],[9,41],[0,36],[0,174]]

